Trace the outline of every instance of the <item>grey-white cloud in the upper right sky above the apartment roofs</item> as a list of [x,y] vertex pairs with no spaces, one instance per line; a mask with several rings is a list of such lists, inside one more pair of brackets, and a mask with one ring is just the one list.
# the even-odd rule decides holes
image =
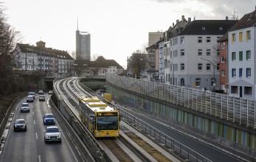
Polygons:
[[[242,18],[246,13],[251,13],[255,10],[256,0],[149,0],[159,3],[170,4],[170,10],[176,10],[177,5],[181,5],[179,13],[190,13],[196,18]],[[172,7],[173,6],[173,7]],[[182,11],[183,9],[183,11]],[[199,9],[199,10],[198,10]],[[200,18],[200,19],[201,19]]]

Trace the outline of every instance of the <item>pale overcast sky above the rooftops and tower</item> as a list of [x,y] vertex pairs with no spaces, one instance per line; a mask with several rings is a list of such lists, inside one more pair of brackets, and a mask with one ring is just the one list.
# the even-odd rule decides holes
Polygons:
[[127,57],[148,46],[149,32],[165,32],[176,20],[242,18],[256,0],[0,0],[19,43],[75,52],[75,32],[91,34],[91,58],[103,56],[123,68]]

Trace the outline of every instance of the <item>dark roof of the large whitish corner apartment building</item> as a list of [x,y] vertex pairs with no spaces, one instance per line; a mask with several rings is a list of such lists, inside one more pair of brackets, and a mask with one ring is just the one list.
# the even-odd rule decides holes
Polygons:
[[179,35],[224,35],[238,21],[236,20],[195,20]]

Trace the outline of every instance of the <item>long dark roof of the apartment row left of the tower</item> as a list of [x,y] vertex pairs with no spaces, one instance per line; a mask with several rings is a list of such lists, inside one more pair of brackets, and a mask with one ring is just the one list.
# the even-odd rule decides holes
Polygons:
[[74,60],[68,52],[58,50],[58,49],[52,49],[52,48],[43,48],[43,47],[38,47],[38,46],[30,46],[29,44],[22,44],[22,43],[17,43],[17,46],[19,49],[21,49],[21,52],[23,53],[32,53],[34,52],[35,54],[42,54],[44,56],[49,55],[51,57],[58,57],[61,59],[66,59],[66,60]]

